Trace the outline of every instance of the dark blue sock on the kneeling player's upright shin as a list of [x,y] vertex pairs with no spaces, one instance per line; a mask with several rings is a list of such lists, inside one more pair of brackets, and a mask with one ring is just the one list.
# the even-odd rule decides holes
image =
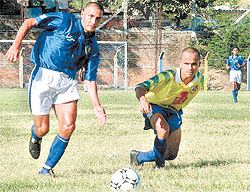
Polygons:
[[156,165],[160,167],[165,165],[165,151],[167,147],[165,143],[165,139],[159,139],[157,136],[155,137],[153,151],[155,153]]

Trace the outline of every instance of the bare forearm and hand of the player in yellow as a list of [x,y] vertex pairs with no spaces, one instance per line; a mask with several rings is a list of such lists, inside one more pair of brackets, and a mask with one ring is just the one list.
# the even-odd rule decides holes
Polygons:
[[151,111],[151,105],[149,104],[147,98],[145,97],[146,91],[141,87],[137,87],[135,89],[135,92],[136,92],[136,98],[140,101],[139,110],[142,113],[149,113]]

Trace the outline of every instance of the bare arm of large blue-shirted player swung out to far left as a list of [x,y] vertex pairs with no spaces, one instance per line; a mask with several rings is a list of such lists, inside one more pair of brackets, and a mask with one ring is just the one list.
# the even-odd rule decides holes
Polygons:
[[6,53],[6,57],[11,62],[16,62],[18,60],[19,53],[21,51],[21,45],[24,37],[36,25],[36,19],[30,18],[23,22],[22,26],[19,28],[15,41]]

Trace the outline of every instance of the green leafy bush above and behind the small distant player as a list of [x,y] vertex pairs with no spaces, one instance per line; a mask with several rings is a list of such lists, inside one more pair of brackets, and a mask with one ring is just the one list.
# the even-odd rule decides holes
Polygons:
[[[250,18],[242,23],[234,24],[237,15],[221,13],[216,16],[218,28],[211,38],[200,39],[203,52],[210,52],[210,65],[214,68],[225,68],[225,59],[231,54],[233,46],[240,48],[240,54],[245,58],[250,52]],[[206,46],[205,46],[206,45]]]

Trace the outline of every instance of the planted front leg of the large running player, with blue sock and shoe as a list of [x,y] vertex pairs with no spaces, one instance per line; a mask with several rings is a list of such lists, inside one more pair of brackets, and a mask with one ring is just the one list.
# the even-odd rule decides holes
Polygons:
[[61,159],[66,147],[68,146],[70,136],[75,130],[77,102],[72,101],[69,103],[57,104],[55,105],[55,111],[59,122],[59,132],[50,147],[48,158],[39,172],[42,175],[53,174],[53,172],[51,174],[50,171]]

